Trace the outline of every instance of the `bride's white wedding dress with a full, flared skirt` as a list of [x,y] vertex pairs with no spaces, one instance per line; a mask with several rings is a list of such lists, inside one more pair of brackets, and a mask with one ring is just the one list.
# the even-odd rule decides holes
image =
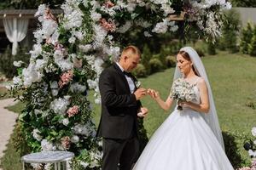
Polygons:
[[[195,86],[196,104],[200,103]],[[233,170],[202,114],[175,109],[156,130],[133,170]]]

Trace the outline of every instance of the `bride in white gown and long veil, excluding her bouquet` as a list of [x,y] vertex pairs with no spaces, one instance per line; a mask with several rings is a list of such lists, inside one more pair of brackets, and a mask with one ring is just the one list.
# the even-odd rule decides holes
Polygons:
[[[207,74],[193,48],[181,48],[177,54],[174,80],[177,78],[194,87],[195,99],[177,102],[183,110],[176,107],[157,129],[133,170],[233,170],[224,153]],[[169,110],[174,101],[172,90],[166,101],[153,89],[148,93],[162,109]]]

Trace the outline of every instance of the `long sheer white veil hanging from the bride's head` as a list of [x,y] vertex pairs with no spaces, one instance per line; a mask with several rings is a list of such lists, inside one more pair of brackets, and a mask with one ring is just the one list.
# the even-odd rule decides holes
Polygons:
[[[218,139],[219,144],[221,144],[221,146],[224,149],[224,140],[222,137],[221,129],[218,124],[218,115],[212,97],[212,89],[208,81],[207,72],[205,71],[204,65],[202,64],[201,59],[199,55],[196,53],[195,49],[190,47],[184,47],[181,48],[180,51],[184,51],[187,54],[189,54],[189,57],[193,63],[196,73],[198,74],[198,76],[204,78],[205,82],[207,83],[210,111],[207,114],[202,114],[202,116],[204,117],[209,127],[211,127],[212,132]],[[173,80],[176,80],[179,77],[183,77],[183,75],[176,66]]]

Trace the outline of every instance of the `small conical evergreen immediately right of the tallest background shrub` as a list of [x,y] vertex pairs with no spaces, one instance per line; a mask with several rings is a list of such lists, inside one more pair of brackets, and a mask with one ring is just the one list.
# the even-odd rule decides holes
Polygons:
[[248,22],[247,27],[241,31],[240,51],[242,54],[248,54],[248,46],[253,37],[253,24]]

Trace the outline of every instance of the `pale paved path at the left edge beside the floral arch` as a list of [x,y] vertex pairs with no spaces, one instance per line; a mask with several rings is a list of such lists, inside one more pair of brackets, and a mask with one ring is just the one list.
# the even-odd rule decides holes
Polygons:
[[4,107],[15,105],[15,103],[14,99],[0,100],[0,157],[3,156],[3,150],[6,150],[6,144],[8,144],[10,135],[13,133],[15,120],[18,116],[18,114],[8,111]]

